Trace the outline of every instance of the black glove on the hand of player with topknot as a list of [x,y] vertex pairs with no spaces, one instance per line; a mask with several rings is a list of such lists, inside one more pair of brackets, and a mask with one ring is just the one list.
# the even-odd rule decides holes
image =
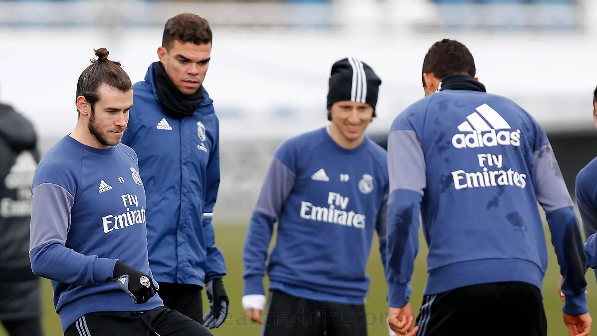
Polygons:
[[133,302],[137,304],[146,303],[158,292],[149,275],[139,272],[120,260],[116,261],[114,266],[112,281],[118,283],[120,288],[127,292]]

